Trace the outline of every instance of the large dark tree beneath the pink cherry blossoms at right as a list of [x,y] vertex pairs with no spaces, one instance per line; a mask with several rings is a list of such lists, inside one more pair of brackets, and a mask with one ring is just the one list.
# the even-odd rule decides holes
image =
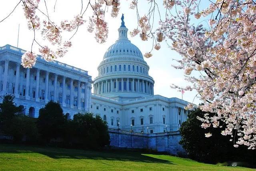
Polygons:
[[[196,117],[202,117],[205,112],[200,109],[190,112],[188,120],[182,123],[180,144],[192,159],[207,163],[226,161],[245,161],[255,163],[255,150],[248,150],[245,146],[235,148],[230,137],[221,135],[221,128],[203,129],[202,122]],[[213,113],[209,113],[209,116]],[[224,123],[220,123],[224,124]],[[211,137],[205,137],[205,133],[212,133]]]

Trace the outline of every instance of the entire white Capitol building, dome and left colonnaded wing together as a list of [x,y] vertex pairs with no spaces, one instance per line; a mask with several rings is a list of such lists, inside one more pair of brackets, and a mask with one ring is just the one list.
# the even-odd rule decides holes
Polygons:
[[[128,40],[124,21],[119,38],[108,48],[92,80],[88,71],[38,56],[33,68],[23,68],[24,50],[0,47],[0,95],[15,96],[22,113],[38,117],[39,109],[52,100],[60,103],[70,119],[78,112],[92,112],[111,129],[138,133],[177,131],[186,121],[188,102],[154,95],[154,79],[140,50]],[[2,100],[2,98],[1,98]]]

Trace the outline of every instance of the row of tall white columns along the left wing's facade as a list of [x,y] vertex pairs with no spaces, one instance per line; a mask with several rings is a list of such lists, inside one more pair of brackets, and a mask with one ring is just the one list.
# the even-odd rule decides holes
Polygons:
[[[4,76],[3,79],[3,87],[2,87],[2,94],[8,93],[7,90],[7,80],[8,80],[8,68],[9,68],[9,60],[4,61]],[[32,101],[40,101],[40,102],[45,102],[47,103],[50,99],[49,97],[49,74],[50,72],[46,70],[40,70],[39,68],[36,68],[36,89],[35,89],[35,98],[30,97],[29,89],[30,89],[30,68],[26,69],[26,88],[25,88],[25,97],[23,95],[20,95],[18,92],[18,85],[20,83],[20,64],[16,63],[16,78],[15,78],[15,84],[14,84],[14,95],[16,97],[19,97],[21,99],[27,99],[27,100],[32,100]],[[2,65],[0,66],[0,69],[2,70]],[[40,72],[45,73],[45,89],[44,89],[44,100],[39,98],[39,87],[40,87]],[[80,80],[74,80],[72,78],[67,78],[66,76],[58,75],[56,73],[54,74],[54,99],[53,101],[58,101],[58,89],[57,89],[57,83],[58,83],[58,78],[62,78],[62,106],[66,106],[66,100],[65,98],[67,97],[66,95],[66,80],[70,80],[70,104],[74,104],[74,82],[77,82],[78,85],[78,95],[77,95],[77,107],[78,109],[81,109],[81,100],[82,100],[82,95],[81,95],[81,85],[83,84],[85,87],[85,92],[84,92],[84,107],[89,107],[89,99],[90,99],[90,90],[91,86],[87,82],[81,82]],[[74,108],[74,105],[70,105],[71,108]]]

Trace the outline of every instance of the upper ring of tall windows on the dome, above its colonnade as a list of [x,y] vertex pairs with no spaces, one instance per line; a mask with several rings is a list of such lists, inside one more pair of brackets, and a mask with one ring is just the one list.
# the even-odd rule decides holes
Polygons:
[[110,67],[104,67],[104,68],[101,68],[100,69],[100,73],[101,74],[105,74],[105,73],[109,73],[109,72],[116,72],[116,71],[133,71],[133,72],[140,72],[140,73],[143,73],[143,74],[148,74],[148,70],[147,69],[145,69],[144,67],[142,68],[142,66],[136,66],[136,68],[135,68],[135,66],[133,65],[132,67],[131,67],[131,65],[128,65],[128,69],[126,68],[126,65],[124,64],[123,65],[123,67],[122,67],[122,65],[119,65],[118,66],[118,69],[117,69],[117,65],[115,65],[114,66],[114,70],[113,70],[113,66],[110,66]]

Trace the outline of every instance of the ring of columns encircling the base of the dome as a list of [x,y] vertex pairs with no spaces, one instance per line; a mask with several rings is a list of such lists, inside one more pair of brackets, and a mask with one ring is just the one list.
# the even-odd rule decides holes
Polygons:
[[154,95],[154,84],[137,78],[115,78],[94,83],[94,93],[139,92]]

